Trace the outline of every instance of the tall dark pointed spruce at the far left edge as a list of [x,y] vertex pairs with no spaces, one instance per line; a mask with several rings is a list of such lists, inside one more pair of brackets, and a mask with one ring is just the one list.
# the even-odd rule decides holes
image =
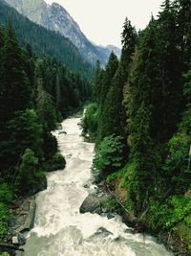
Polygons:
[[[16,111],[32,106],[32,88],[25,73],[21,48],[16,35],[8,25],[4,45],[1,49],[1,123],[5,123]],[[3,126],[4,126],[3,125]]]

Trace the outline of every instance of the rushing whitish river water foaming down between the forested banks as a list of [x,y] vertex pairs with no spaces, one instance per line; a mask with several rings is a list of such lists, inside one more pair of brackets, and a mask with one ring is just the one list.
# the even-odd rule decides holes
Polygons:
[[[62,123],[67,134],[55,131],[67,166],[47,175],[48,188],[36,195],[36,215],[28,234],[24,256],[168,256],[173,255],[152,237],[127,232],[120,217],[108,220],[97,214],[79,213],[92,184],[94,144],[83,141],[78,123]],[[84,185],[89,185],[89,189]],[[87,187],[87,186],[86,186]],[[108,230],[109,232],[107,232]]]

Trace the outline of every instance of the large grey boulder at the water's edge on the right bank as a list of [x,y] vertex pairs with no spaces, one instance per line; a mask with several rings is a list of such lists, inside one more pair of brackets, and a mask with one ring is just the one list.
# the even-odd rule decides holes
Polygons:
[[101,206],[100,206],[100,199],[96,198],[94,195],[89,195],[85,200],[82,202],[82,205],[79,208],[80,213],[97,213],[100,214]]

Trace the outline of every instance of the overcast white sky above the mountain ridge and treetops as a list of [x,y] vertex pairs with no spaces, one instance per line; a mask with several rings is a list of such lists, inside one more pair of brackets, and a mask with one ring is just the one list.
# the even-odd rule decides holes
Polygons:
[[156,15],[162,0],[45,0],[62,5],[78,23],[81,31],[96,44],[120,47],[122,25],[127,16],[137,29]]

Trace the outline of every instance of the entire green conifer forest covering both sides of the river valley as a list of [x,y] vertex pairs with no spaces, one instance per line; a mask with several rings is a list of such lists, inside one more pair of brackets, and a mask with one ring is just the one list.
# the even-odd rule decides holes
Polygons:
[[53,130],[84,108],[92,174],[113,195],[104,207],[191,255],[191,2],[165,0],[144,30],[127,17],[121,31],[121,57],[93,65],[0,0],[0,256],[17,247],[5,245],[12,205],[67,166]]

